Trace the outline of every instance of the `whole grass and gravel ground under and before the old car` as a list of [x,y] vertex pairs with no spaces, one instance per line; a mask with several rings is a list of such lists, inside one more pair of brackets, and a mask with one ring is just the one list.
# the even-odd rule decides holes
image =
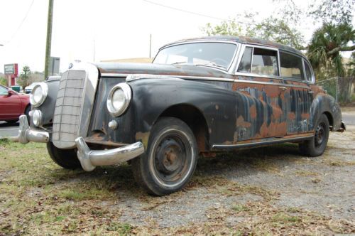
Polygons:
[[0,147],[0,235],[355,232],[354,126],[330,134],[316,158],[297,144],[201,158],[183,191],[160,198],[127,164],[68,171],[43,144]]

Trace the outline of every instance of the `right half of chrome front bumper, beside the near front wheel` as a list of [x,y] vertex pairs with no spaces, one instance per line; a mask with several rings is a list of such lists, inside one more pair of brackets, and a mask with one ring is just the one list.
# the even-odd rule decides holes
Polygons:
[[75,139],[75,143],[77,144],[77,158],[84,171],[93,171],[96,166],[116,165],[144,153],[144,146],[140,141],[108,150],[89,149],[83,137]]

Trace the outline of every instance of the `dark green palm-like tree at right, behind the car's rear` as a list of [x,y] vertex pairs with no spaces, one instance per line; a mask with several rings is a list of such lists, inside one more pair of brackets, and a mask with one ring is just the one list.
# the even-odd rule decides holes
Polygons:
[[[355,50],[355,31],[350,23],[324,24],[313,33],[307,56],[316,72],[333,70],[337,76],[344,76],[342,51]],[[352,43],[349,46],[349,42]]]

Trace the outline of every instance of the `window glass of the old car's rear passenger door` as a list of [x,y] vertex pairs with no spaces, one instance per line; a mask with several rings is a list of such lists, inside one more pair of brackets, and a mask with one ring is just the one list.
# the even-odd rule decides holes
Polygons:
[[281,76],[304,80],[302,73],[302,58],[289,53],[280,52]]

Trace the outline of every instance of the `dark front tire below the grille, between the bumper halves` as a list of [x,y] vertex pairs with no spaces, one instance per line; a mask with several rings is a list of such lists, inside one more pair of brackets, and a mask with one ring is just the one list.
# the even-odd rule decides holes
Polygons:
[[61,166],[67,169],[82,168],[79,159],[77,159],[76,149],[58,149],[52,142],[47,143],[47,150],[50,158]]

